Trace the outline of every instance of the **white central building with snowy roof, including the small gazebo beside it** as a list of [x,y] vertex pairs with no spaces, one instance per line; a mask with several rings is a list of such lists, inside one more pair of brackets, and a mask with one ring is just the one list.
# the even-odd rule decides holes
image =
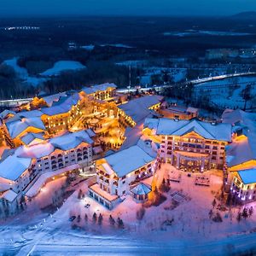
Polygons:
[[90,196],[109,209],[125,195],[132,195],[137,201],[146,200],[150,186],[142,191],[137,185],[154,174],[156,156],[157,148],[154,143],[140,140],[130,148],[97,160],[97,181],[90,186]]

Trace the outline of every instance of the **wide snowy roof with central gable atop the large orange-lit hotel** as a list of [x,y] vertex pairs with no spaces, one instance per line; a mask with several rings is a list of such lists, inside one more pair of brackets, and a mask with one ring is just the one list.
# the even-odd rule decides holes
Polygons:
[[211,140],[231,142],[230,124],[211,124],[198,119],[146,119],[144,128],[154,129],[157,135],[183,136],[195,131],[201,137]]

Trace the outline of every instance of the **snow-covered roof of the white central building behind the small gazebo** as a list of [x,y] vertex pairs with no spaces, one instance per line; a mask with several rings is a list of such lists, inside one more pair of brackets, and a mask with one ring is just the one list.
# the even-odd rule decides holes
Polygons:
[[118,177],[123,177],[150,163],[154,158],[136,145],[111,154],[105,160],[107,160],[108,165],[111,166]]

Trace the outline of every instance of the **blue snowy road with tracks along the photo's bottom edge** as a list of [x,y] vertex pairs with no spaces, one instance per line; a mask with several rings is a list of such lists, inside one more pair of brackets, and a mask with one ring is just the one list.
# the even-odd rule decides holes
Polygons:
[[[175,241],[170,238],[169,243],[149,243],[147,241],[131,241],[104,237],[91,239],[86,242],[81,237],[80,241],[73,242],[39,242],[36,245],[25,246],[17,255],[227,255],[235,252],[244,252],[255,248],[256,235],[240,235],[226,238],[222,241],[195,242]],[[94,242],[92,242],[94,241]],[[5,252],[14,252],[9,248]]]

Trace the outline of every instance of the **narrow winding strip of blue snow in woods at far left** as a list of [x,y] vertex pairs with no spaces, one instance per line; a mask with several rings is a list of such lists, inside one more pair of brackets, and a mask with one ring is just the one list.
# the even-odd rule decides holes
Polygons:
[[26,68],[20,67],[17,64],[17,61],[18,61],[18,58],[15,57],[13,59],[3,61],[3,64],[13,67],[17,77],[22,80],[23,84],[29,84],[34,87],[37,87],[38,85],[43,84],[47,80],[44,78],[37,78],[37,77],[29,76]]

